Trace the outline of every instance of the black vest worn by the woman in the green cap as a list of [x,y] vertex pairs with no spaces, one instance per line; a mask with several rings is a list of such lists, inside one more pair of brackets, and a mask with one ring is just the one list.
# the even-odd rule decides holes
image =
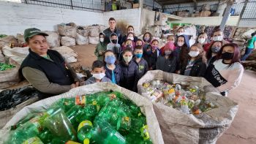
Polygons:
[[29,48],[29,56],[24,59],[20,66],[20,76],[23,77],[23,67],[31,67],[44,72],[50,83],[57,83],[61,86],[68,86],[74,83],[71,72],[61,54],[56,50],[48,50],[47,54],[53,61],[39,56]]

